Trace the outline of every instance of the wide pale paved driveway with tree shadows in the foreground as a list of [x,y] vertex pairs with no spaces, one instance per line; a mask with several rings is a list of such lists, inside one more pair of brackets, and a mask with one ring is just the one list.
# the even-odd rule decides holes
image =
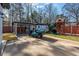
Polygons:
[[[62,40],[60,40],[62,41]],[[72,47],[63,46],[59,40],[43,37],[42,39],[21,36],[14,44],[6,47],[3,56],[72,56],[78,53]],[[76,47],[76,46],[75,46]],[[77,46],[78,47],[78,46]],[[71,51],[72,50],[72,51]],[[79,52],[78,49],[76,52]]]

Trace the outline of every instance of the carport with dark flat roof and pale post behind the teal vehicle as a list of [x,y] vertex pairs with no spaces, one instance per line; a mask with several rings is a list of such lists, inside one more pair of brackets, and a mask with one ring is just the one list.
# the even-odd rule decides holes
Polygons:
[[26,22],[13,22],[12,23],[12,32],[15,34],[28,34],[33,28],[38,28],[42,26],[47,26],[48,24],[44,23],[26,23]]

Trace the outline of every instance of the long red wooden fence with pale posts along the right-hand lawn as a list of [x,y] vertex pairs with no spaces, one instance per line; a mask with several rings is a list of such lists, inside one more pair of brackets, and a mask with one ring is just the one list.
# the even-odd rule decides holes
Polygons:
[[56,29],[60,34],[79,35],[79,25],[61,25]]

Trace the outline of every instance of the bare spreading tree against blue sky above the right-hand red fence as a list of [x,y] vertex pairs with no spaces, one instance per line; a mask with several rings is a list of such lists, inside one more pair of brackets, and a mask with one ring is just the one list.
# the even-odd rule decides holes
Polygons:
[[79,4],[78,3],[67,3],[63,7],[63,11],[66,16],[73,18],[76,22],[79,22]]

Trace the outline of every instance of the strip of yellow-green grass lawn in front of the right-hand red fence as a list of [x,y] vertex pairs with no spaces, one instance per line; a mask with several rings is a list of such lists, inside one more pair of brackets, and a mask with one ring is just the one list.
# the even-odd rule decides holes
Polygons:
[[77,36],[55,35],[55,34],[47,34],[47,35],[57,37],[57,38],[62,38],[62,39],[73,40],[73,41],[79,42],[79,37],[77,37]]

